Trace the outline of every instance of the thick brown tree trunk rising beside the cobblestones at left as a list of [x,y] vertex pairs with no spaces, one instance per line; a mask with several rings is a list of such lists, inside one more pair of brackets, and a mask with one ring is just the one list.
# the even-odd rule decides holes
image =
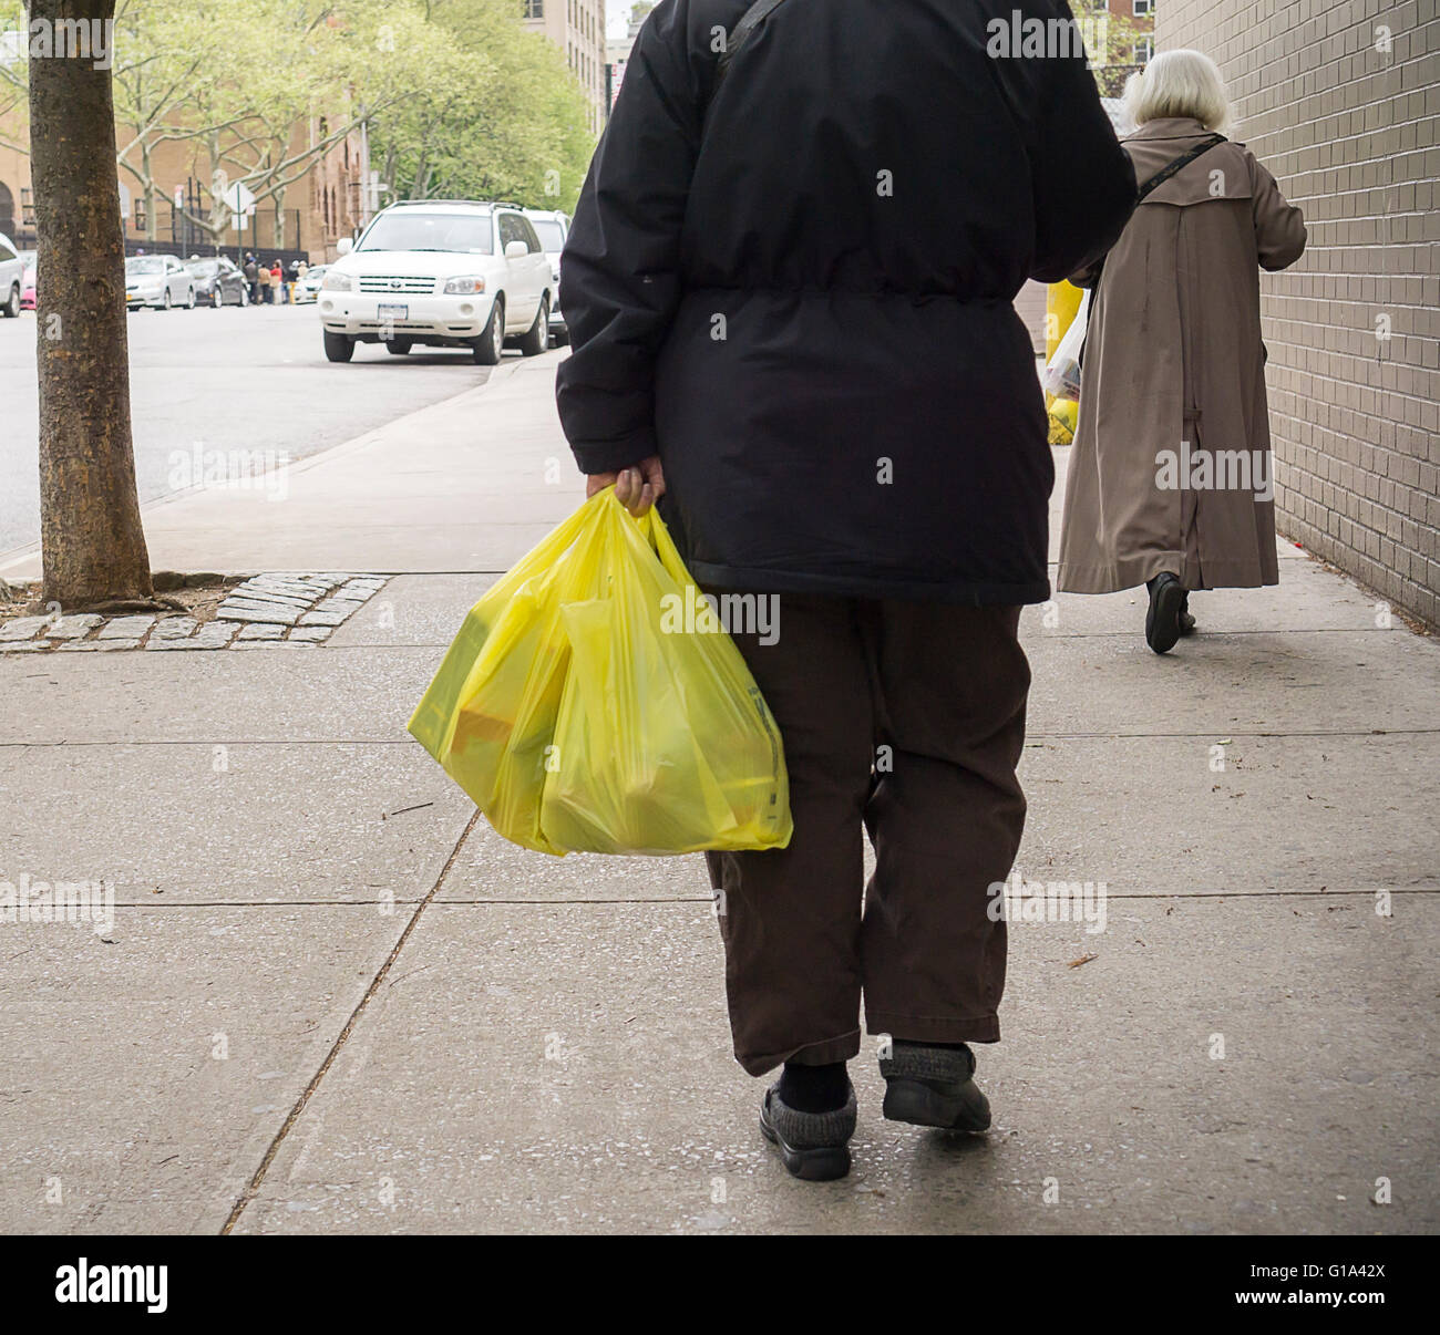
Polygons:
[[[115,0],[32,0],[30,20],[111,19]],[[39,234],[42,598],[153,597],[130,434],[124,234],[109,70],[30,60]]]

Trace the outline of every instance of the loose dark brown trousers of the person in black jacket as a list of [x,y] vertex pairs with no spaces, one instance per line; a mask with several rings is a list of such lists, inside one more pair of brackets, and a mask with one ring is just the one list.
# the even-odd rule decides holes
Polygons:
[[707,855],[737,1060],[755,1076],[848,1060],[861,994],[873,1034],[998,1040],[1005,924],[988,909],[1025,823],[1020,609],[780,594],[778,610],[773,644],[734,640],[785,739],[795,836]]

